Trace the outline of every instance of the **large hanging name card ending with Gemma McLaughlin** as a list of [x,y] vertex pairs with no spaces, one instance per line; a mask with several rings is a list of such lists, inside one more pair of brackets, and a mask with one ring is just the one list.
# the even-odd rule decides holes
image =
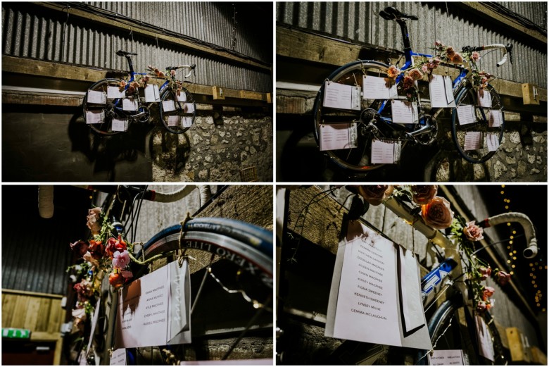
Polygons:
[[358,220],[343,223],[324,335],[430,350],[417,258]]

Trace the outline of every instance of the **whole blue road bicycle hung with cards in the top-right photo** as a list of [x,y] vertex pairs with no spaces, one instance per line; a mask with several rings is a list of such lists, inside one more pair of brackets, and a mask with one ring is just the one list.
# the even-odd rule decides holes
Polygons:
[[[412,51],[406,21],[417,20],[415,15],[401,13],[392,7],[385,8],[379,15],[386,20],[396,21],[400,26],[405,57],[403,66],[398,70],[396,66],[374,60],[347,63],[327,77],[317,93],[313,106],[315,124],[313,131],[317,146],[321,151],[325,151],[329,161],[343,170],[365,173],[388,163],[396,163],[408,143],[433,144],[438,132],[436,118],[443,108],[429,108],[427,104],[423,104],[417,95],[417,81],[414,78],[405,80],[408,75],[405,76],[404,73],[416,68],[415,56],[422,58],[424,65],[429,65],[428,75],[431,75],[432,69],[438,66],[439,60],[434,55],[418,54]],[[512,44],[466,46],[462,52],[473,55],[477,51],[496,49],[502,49],[504,53],[501,61],[497,63],[497,66],[501,66],[507,61],[507,56],[511,55]],[[478,56],[477,54],[475,56]],[[512,61],[512,57],[510,60]],[[495,154],[503,138],[505,125],[503,102],[496,89],[488,84],[492,75],[483,73],[484,70],[477,70],[476,62],[473,64],[469,61],[470,58],[462,60],[464,67],[451,83],[452,96],[448,96],[446,92],[447,99],[452,97],[455,101],[455,108],[452,111],[452,137],[462,158],[469,163],[484,163]],[[395,75],[395,71],[398,75]],[[389,88],[386,90],[389,98],[380,99],[372,97],[369,93],[366,95],[364,88],[368,84],[365,84],[364,77],[377,77],[379,79],[371,80],[383,80],[384,87]],[[326,104],[324,98],[328,94],[327,88],[332,83],[336,83],[336,87],[340,87],[341,90],[347,88],[345,93],[351,99],[347,101],[351,106],[334,107],[332,103],[324,106]],[[408,83],[409,88],[405,89],[405,83]],[[477,95],[478,85],[482,85],[481,99]],[[396,90],[397,87],[398,90]],[[412,89],[415,89],[414,93],[410,93]],[[489,96],[491,99],[484,96]],[[411,110],[411,119],[407,118],[404,122],[392,116],[393,107],[391,106],[391,104],[398,104],[399,111],[402,110],[403,107],[400,105],[404,103],[401,101],[403,98],[412,101],[411,104],[405,102],[404,109]],[[417,112],[413,111],[414,106],[417,107]],[[457,112],[458,110],[460,113]],[[322,141],[322,130],[324,135],[331,134],[339,137],[341,142],[346,144],[339,144],[332,148],[330,144]],[[328,147],[322,147],[323,143]]]

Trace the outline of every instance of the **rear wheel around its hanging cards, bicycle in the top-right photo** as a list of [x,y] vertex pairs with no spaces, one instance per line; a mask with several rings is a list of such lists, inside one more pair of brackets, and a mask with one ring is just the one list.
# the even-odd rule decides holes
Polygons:
[[[362,76],[387,77],[389,67],[377,61],[354,61],[337,69],[329,75],[328,81],[342,85],[358,86],[362,91]],[[398,124],[386,123],[377,113],[383,101],[379,99],[360,99],[360,109],[328,108],[324,102],[323,84],[315,99],[313,106],[314,132],[317,144],[320,147],[320,135],[322,128],[330,123],[356,124],[357,144],[350,149],[336,149],[325,151],[327,156],[341,168],[357,171],[367,171],[380,168],[384,164],[372,163],[371,149],[372,139],[395,139],[405,127]],[[383,117],[391,116],[389,104],[382,111]],[[404,143],[405,144],[405,143]],[[402,148],[404,147],[404,144]]]

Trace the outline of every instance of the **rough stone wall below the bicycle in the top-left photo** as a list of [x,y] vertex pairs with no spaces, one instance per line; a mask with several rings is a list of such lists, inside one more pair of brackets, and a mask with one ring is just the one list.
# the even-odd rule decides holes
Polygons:
[[[156,130],[152,144],[154,181],[272,181],[268,113],[201,111],[187,132]],[[241,173],[246,168],[251,169]]]

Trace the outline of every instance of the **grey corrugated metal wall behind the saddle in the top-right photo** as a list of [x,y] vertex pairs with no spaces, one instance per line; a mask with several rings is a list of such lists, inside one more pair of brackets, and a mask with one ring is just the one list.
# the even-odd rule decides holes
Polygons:
[[[500,3],[507,4],[507,3]],[[543,21],[547,3],[512,3],[513,11],[538,24]],[[520,4],[520,5],[519,5]],[[391,49],[403,49],[400,27],[396,22],[384,20],[379,11],[394,6],[403,13],[417,15],[419,20],[408,22],[412,49],[422,54],[432,52],[435,40],[461,48],[483,44],[511,42],[515,45],[514,63],[501,68],[496,63],[499,51],[486,54],[481,67],[498,77],[516,82],[530,82],[547,87],[547,47],[536,49],[524,43],[524,37],[509,32],[493,30],[486,22],[464,8],[448,3],[417,2],[277,2],[278,22],[327,32],[336,37],[346,37],[355,42],[366,42]],[[350,60],[351,61],[351,60]]]

